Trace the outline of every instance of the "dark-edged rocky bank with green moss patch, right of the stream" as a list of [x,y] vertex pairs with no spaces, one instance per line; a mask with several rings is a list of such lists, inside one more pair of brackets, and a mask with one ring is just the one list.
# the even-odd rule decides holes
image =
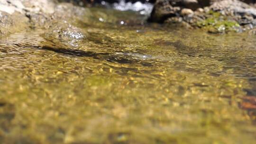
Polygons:
[[149,21],[212,33],[243,31],[256,27],[255,0],[156,0]]

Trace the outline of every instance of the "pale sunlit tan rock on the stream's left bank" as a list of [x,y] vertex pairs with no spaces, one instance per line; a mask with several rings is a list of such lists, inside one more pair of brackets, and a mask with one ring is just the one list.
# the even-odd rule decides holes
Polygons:
[[58,0],[0,0],[0,36],[24,30],[49,29],[57,21],[72,25],[83,15],[89,16],[90,11]]

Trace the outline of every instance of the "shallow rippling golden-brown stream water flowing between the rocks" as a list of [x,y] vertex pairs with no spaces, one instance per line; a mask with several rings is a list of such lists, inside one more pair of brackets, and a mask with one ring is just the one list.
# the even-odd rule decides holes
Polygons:
[[86,31],[72,45],[42,31],[0,40],[1,143],[256,142],[239,107],[245,90],[256,90],[254,36],[141,25],[136,13],[95,10],[72,23]]

